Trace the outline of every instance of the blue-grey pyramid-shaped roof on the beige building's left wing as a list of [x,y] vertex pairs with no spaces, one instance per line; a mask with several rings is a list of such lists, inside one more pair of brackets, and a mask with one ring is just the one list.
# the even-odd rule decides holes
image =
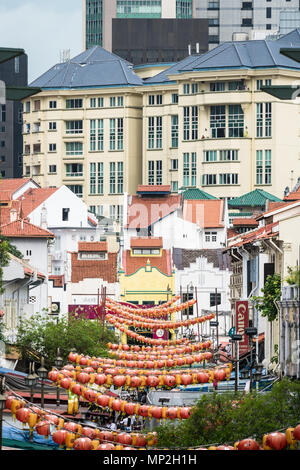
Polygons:
[[82,52],[68,62],[54,65],[31,83],[40,88],[88,88],[138,86],[143,80],[132,65],[100,46]]

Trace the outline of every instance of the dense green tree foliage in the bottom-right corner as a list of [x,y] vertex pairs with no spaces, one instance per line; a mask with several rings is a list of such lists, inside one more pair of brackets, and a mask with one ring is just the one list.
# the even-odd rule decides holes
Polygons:
[[189,419],[155,430],[159,447],[175,448],[261,441],[266,433],[299,423],[300,383],[284,379],[266,393],[205,394]]

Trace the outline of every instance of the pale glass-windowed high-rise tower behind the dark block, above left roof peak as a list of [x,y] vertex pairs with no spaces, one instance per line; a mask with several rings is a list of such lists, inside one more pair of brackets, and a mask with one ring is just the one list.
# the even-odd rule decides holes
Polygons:
[[112,50],[113,18],[193,18],[195,0],[83,0],[84,48]]

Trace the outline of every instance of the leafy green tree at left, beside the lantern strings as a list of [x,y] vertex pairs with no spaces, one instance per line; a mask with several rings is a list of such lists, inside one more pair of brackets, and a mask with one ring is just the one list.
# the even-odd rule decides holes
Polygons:
[[104,328],[99,321],[86,319],[60,319],[47,315],[33,315],[21,320],[15,346],[23,359],[32,359],[30,351],[45,357],[46,364],[54,364],[57,348],[62,358],[67,361],[71,349],[89,356],[107,356],[107,343],[117,342],[113,331]]

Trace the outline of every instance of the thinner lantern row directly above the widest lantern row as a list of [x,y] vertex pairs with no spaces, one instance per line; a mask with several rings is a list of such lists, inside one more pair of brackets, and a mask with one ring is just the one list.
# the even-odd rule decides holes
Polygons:
[[186,355],[173,355],[167,356],[164,354],[158,356],[125,353],[124,359],[109,359],[109,358],[91,358],[89,356],[82,356],[77,353],[69,354],[69,361],[80,366],[92,367],[94,370],[105,367],[126,367],[135,369],[163,369],[172,367],[190,366],[194,363],[209,362],[213,355],[210,351],[205,351],[198,354]]

